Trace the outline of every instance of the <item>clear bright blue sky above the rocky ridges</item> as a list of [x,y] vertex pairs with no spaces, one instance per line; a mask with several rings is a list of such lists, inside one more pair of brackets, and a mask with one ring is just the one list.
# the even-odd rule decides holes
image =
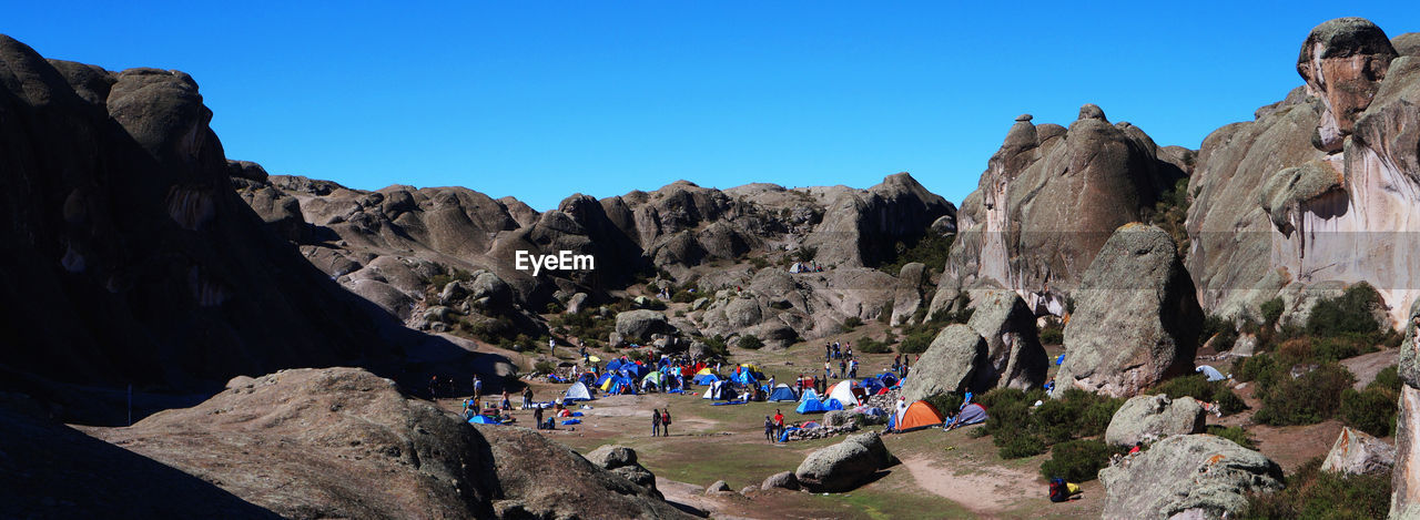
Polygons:
[[[233,159],[378,189],[462,185],[542,210],[676,179],[960,202],[1015,115],[1095,102],[1160,145],[1301,84],[1328,18],[1420,30],[1414,3],[24,3],[51,58],[190,72]],[[240,6],[240,7],[236,7]]]

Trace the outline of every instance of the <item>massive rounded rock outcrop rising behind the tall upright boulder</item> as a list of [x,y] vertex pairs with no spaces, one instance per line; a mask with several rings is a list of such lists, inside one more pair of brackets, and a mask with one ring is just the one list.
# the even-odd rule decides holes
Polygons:
[[1113,230],[1186,176],[1137,126],[1081,107],[1062,128],[1021,115],[961,203],[957,239],[932,311],[958,291],[1020,293],[1035,314],[1065,314],[1066,297]]

